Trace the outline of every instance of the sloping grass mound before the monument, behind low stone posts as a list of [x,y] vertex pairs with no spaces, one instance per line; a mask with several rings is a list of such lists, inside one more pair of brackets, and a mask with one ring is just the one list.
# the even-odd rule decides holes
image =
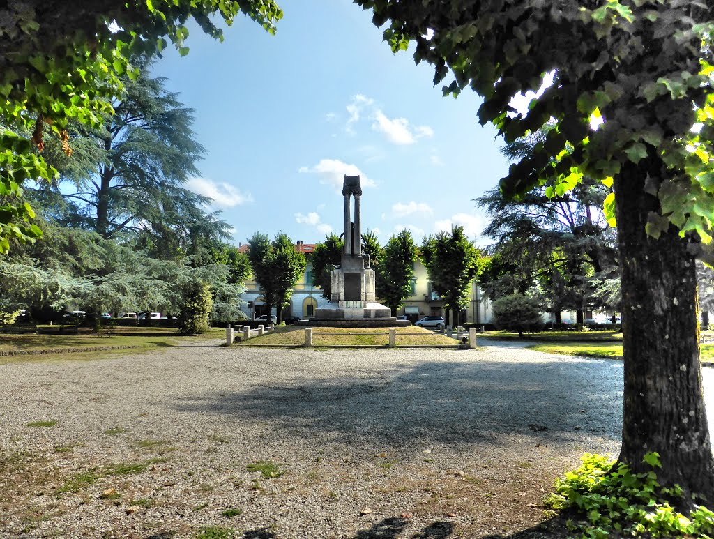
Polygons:
[[[459,341],[425,328],[396,328],[399,346],[458,346]],[[328,333],[318,335],[317,333]],[[413,333],[413,335],[406,335]],[[375,346],[389,343],[389,328],[313,328],[313,346]],[[305,346],[305,328],[278,327],[273,333],[253,337],[240,346]]]

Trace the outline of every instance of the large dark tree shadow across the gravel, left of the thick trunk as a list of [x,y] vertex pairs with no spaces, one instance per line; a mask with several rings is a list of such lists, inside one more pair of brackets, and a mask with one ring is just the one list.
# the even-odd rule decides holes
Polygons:
[[622,364],[611,361],[425,361],[386,374],[290,377],[271,383],[266,376],[253,386],[178,398],[171,406],[270,420],[295,437],[323,432],[380,446],[505,443],[503,434],[543,443],[620,438]]

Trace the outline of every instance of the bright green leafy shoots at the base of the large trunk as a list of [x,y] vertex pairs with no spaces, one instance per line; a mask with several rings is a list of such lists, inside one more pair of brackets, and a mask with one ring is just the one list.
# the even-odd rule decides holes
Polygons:
[[[585,453],[583,465],[555,481],[555,493],[545,505],[571,511],[577,520],[568,520],[571,531],[581,538],[663,537],[714,539],[714,513],[695,506],[683,515],[670,505],[681,498],[682,490],[662,488],[654,468],[661,468],[659,454],[647,453],[644,461],[653,469],[632,473],[624,463],[602,455]],[[613,466],[615,466],[613,468]]]

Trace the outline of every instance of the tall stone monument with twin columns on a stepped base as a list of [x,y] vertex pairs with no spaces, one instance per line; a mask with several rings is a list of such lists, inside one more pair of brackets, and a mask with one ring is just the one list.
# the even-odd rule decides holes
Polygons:
[[[375,296],[375,273],[368,256],[362,254],[362,213],[360,198],[362,188],[359,176],[345,176],[342,186],[344,206],[344,240],[341,265],[332,272],[332,295],[330,303],[318,307],[310,323],[335,322],[332,325],[375,325],[388,322],[390,326],[402,325],[392,318],[391,309],[377,303]],[[350,199],[354,197],[354,222],[351,220]],[[306,321],[308,322],[308,321]],[[342,323],[339,323],[342,322]],[[373,322],[373,323],[370,323]],[[407,321],[408,324],[408,321]],[[327,323],[323,325],[328,325]]]

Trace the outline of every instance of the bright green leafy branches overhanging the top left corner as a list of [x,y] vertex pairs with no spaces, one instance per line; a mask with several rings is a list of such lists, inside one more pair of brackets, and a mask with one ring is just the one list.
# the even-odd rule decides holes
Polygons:
[[132,57],[160,52],[167,38],[188,53],[189,19],[223,39],[215,16],[231,24],[241,12],[271,33],[283,15],[273,0],[29,0],[0,9],[0,122],[11,129],[0,133],[0,252],[9,249],[9,238],[41,235],[22,195],[27,180],[57,176],[38,153],[45,125],[71,154],[69,122],[101,127],[124,93],[121,77],[139,76]]

